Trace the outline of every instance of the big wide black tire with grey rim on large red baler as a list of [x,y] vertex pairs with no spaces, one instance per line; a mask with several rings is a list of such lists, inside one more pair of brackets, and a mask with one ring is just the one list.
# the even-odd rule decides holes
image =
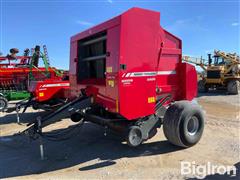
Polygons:
[[[195,122],[194,133],[190,132],[189,128],[192,121]],[[187,148],[195,145],[201,139],[203,130],[204,115],[201,108],[188,101],[179,101],[171,105],[163,119],[165,137],[177,146]]]

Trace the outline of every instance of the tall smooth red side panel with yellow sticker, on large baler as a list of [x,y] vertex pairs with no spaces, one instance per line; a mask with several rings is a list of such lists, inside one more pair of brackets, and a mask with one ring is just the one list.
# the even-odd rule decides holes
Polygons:
[[133,8],[121,16],[120,114],[131,120],[154,113],[160,13]]

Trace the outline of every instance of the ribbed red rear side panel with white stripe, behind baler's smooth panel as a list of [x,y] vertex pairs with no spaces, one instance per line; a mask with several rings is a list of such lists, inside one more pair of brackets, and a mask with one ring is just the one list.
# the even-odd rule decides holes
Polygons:
[[158,95],[171,94],[175,99],[179,93],[179,72],[181,64],[181,40],[160,27],[161,51],[157,67]]

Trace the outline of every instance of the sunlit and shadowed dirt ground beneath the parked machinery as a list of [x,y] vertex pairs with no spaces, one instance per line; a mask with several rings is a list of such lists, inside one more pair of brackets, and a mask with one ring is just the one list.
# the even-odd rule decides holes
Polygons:
[[[85,124],[65,141],[43,140],[45,160],[40,160],[39,141],[15,135],[36,118],[36,112],[21,116],[2,113],[0,118],[0,179],[188,179],[181,175],[182,161],[205,165],[235,165],[240,168],[240,97],[223,92],[201,94],[197,99],[206,115],[201,141],[188,149],[171,145],[162,129],[138,148],[130,148],[121,138],[104,129]],[[70,120],[47,130],[66,128]],[[239,171],[237,177],[239,178]],[[228,179],[209,175],[207,179]],[[232,178],[231,178],[232,179]]]

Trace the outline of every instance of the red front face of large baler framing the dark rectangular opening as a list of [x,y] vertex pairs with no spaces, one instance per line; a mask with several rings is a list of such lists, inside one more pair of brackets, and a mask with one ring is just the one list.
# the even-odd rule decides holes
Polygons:
[[[79,48],[78,42],[81,39],[101,32],[106,32],[106,52],[110,53],[110,55],[106,57],[105,78],[88,78],[79,81],[77,72],[81,67],[79,66],[79,53],[77,50]],[[95,97],[96,103],[108,108],[111,112],[118,111],[119,41],[120,17],[111,19],[71,38],[69,78],[71,84],[70,96],[72,98],[79,96],[81,89],[87,87],[88,94]]]

